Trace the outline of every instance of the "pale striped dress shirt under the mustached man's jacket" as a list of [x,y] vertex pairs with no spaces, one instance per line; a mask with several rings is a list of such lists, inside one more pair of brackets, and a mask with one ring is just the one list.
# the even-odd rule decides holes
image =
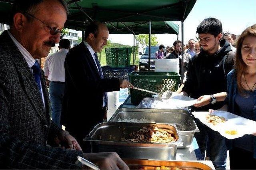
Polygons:
[[[12,36],[12,34],[8,31],[8,34],[10,36],[10,38],[12,38],[12,41],[14,42],[14,44],[18,47],[20,53],[23,55],[24,59],[26,60],[26,62],[28,63],[28,67],[30,68],[30,71],[33,74],[33,69],[31,68],[34,63],[36,63],[36,60],[32,57],[32,55],[26,50],[26,48],[24,48],[15,38],[14,36]],[[44,103],[44,109],[45,109],[45,101],[44,101],[44,93],[43,93],[43,88],[42,88],[42,82],[40,84],[41,86],[41,96],[42,96],[42,101]]]

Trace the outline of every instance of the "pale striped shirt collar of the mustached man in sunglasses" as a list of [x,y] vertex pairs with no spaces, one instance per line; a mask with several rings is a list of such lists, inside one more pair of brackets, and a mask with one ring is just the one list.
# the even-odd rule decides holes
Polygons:
[[12,34],[10,33],[10,31],[8,30],[8,34],[10,36],[10,38],[12,39],[12,41],[14,42],[14,44],[18,47],[20,53],[23,55],[23,57],[25,58],[26,62],[28,63],[28,67],[31,68],[34,63],[36,62],[36,60],[32,57],[32,55],[26,50],[26,48],[24,48],[15,38],[14,36],[12,36]]

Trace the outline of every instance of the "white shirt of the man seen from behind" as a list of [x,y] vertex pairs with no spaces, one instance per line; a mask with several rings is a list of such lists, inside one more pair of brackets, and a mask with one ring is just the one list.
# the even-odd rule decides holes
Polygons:
[[67,53],[68,49],[62,48],[47,57],[44,63],[44,75],[48,76],[49,81],[65,82],[64,62]]

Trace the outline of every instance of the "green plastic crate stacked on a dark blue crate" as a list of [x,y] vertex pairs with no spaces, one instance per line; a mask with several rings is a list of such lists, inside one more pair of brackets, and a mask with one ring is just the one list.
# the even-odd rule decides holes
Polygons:
[[105,48],[107,65],[111,67],[130,67],[132,48]]

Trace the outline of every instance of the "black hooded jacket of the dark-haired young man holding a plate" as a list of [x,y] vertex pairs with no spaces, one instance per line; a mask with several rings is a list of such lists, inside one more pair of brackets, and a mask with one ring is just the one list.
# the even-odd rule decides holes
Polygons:
[[[182,91],[194,99],[202,95],[213,95],[227,91],[226,76],[233,69],[235,53],[226,40],[220,41],[220,49],[214,55],[208,55],[203,49],[192,57],[188,67],[187,79]],[[224,102],[204,107],[192,107],[192,111],[220,109]]]

